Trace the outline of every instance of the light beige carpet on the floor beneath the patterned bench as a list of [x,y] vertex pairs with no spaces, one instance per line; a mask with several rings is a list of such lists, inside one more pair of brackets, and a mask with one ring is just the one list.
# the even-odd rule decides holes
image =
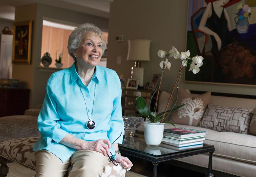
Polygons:
[[[35,172],[15,162],[8,163],[9,173],[7,177],[32,177]],[[126,172],[126,177],[146,177],[132,171]]]

